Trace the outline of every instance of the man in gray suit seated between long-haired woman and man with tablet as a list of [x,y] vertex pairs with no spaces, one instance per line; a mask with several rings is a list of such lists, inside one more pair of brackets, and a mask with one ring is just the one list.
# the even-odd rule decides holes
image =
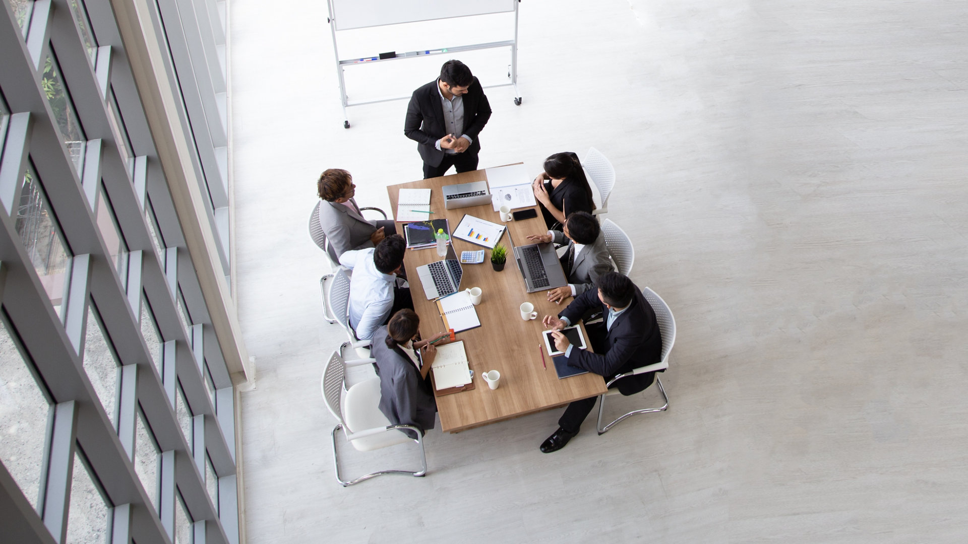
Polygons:
[[561,268],[568,277],[568,285],[548,291],[548,300],[560,304],[567,296],[578,296],[595,288],[598,276],[612,270],[605,236],[598,220],[588,212],[572,212],[565,218],[561,230],[546,234],[530,234],[529,240],[568,244],[561,256]]

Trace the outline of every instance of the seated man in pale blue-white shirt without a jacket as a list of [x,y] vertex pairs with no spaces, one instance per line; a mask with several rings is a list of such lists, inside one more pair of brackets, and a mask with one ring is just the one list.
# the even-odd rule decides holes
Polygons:
[[370,340],[394,312],[413,308],[410,289],[397,287],[404,269],[407,242],[400,234],[383,238],[376,248],[345,252],[340,264],[352,269],[349,281],[349,324],[359,340]]

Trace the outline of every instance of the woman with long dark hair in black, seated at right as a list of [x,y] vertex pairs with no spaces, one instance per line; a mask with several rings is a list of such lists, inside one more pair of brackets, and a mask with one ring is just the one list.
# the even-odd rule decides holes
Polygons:
[[589,178],[585,177],[578,155],[570,151],[556,153],[545,159],[544,168],[531,186],[549,229],[560,230],[564,218],[572,212],[591,213],[595,209]]

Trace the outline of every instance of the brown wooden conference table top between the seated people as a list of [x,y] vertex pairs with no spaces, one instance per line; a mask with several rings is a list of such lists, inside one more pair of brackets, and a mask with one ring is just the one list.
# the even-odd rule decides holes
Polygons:
[[[397,209],[397,195],[400,189],[431,189],[432,219],[446,218],[450,228],[460,223],[464,214],[469,214],[492,223],[501,223],[499,213],[491,204],[446,210],[440,188],[444,185],[469,183],[486,180],[485,170],[475,170],[411,183],[387,187],[391,210]],[[536,207],[536,206],[535,206]],[[536,218],[524,221],[509,221],[504,224],[511,231],[515,243],[530,243],[529,234],[540,234],[548,229],[539,211]],[[397,231],[403,233],[403,227]],[[572,378],[559,379],[555,365],[547,352],[544,354],[547,369],[541,366],[541,351],[544,344],[541,331],[544,326],[541,318],[545,315],[557,316],[571,298],[555,304],[548,302],[546,290],[528,293],[524,279],[513,262],[510,242],[505,233],[500,243],[508,248],[508,261],[504,270],[495,272],[491,267],[491,252],[467,241],[451,237],[454,252],[460,258],[461,252],[484,249],[484,262],[463,264],[464,277],[461,288],[480,287],[483,291],[481,303],[476,307],[481,326],[457,333],[457,340],[464,341],[468,353],[470,369],[474,371],[474,389],[461,391],[437,398],[440,427],[443,431],[456,433],[466,429],[510,419],[545,408],[562,406],[571,401],[600,395],[606,391],[605,380],[595,374],[585,374]],[[437,304],[427,300],[423,287],[417,278],[416,267],[441,257],[433,249],[408,250],[404,263],[413,295],[413,307],[420,316],[420,334],[429,338],[444,330],[443,320]],[[521,318],[519,306],[523,302],[534,305],[538,318],[525,321]],[[584,325],[583,325],[584,329]],[[586,335],[588,338],[588,335]],[[482,373],[497,370],[500,373],[498,389],[491,390]]]

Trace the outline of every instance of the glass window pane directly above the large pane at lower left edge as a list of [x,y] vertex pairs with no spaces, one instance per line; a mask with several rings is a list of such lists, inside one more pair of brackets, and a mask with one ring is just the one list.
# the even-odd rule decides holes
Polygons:
[[15,228],[37,275],[41,277],[47,298],[59,314],[64,293],[67,291],[70,254],[61,238],[60,227],[47,205],[40,180],[30,169],[23,176]]

